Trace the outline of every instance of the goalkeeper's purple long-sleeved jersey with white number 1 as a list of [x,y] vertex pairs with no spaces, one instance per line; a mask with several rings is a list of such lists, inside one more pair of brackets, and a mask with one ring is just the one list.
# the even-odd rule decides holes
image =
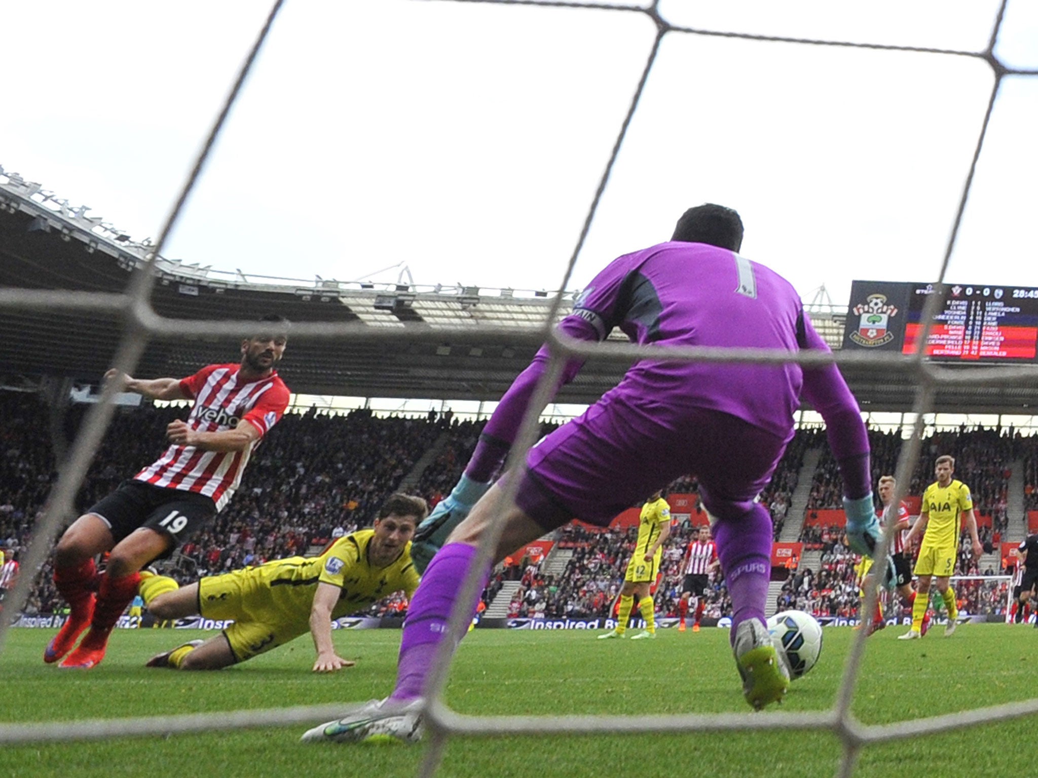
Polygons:
[[[614,259],[558,325],[583,340],[603,340],[617,327],[638,343],[829,351],[789,281],[763,265],[702,243],[661,243]],[[547,361],[548,350],[542,348],[504,393],[465,470],[473,480],[490,480],[500,466]],[[572,381],[581,364],[571,359],[562,383]],[[720,411],[788,440],[801,393],[825,419],[846,494],[868,494],[868,435],[836,365],[802,370],[794,363],[645,359],[599,402],[626,400],[649,412],[653,406]]]

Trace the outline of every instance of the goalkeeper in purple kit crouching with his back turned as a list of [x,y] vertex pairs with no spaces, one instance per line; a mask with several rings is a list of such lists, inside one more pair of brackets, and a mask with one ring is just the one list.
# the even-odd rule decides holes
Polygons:
[[[714,204],[690,209],[671,241],[610,262],[558,328],[593,341],[619,327],[634,342],[662,346],[827,352],[793,286],[740,256],[741,244],[742,221],[735,211]],[[315,727],[304,740],[419,737],[425,680],[459,584],[491,522],[503,522],[494,553],[500,561],[571,519],[606,526],[686,474],[698,476],[713,522],[745,698],[761,708],[785,694],[788,668],[764,617],[772,525],[756,498],[793,437],[801,395],[825,419],[844,478],[852,548],[872,554],[880,538],[865,424],[836,365],[639,360],[617,387],[547,436],[529,450],[523,467],[495,483],[547,363],[543,348],[502,397],[454,492],[415,534],[415,563],[432,561],[408,611],[392,695]],[[572,381],[581,364],[569,360],[562,382]],[[519,478],[515,501],[504,499],[507,478]],[[481,574],[485,584],[490,568]]]

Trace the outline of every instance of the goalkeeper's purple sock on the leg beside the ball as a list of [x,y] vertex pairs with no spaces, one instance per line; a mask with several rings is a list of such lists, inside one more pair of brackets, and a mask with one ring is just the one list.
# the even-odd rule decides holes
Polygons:
[[739,519],[722,519],[713,527],[717,557],[732,598],[732,632],[743,621],[764,622],[771,579],[771,517],[760,503]]

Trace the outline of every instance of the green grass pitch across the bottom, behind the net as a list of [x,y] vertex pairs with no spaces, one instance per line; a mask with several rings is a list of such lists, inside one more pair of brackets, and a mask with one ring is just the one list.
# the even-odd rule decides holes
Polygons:
[[[866,723],[1027,699],[1034,694],[1038,630],[966,624],[945,639],[870,638],[855,713]],[[147,716],[280,704],[362,701],[385,696],[400,633],[335,633],[340,656],[357,666],[309,672],[307,638],[215,673],[148,670],[144,661],[204,634],[118,631],[104,664],[62,671],[40,659],[52,631],[11,630],[0,656],[0,720]],[[210,633],[212,634],[212,633]],[[472,714],[652,714],[746,712],[727,633],[668,630],[655,641],[597,641],[583,631],[477,630],[462,644],[448,701]],[[797,680],[787,711],[830,707],[853,633],[827,629],[818,666]],[[747,714],[748,715],[748,714]],[[764,715],[767,714],[757,714]],[[1027,765],[1038,717],[869,747],[855,776],[1016,775]],[[421,747],[300,744],[300,727],[172,738],[33,744],[0,748],[8,776],[412,776]],[[831,776],[840,744],[827,732],[523,737],[454,739],[444,778],[605,775]]]

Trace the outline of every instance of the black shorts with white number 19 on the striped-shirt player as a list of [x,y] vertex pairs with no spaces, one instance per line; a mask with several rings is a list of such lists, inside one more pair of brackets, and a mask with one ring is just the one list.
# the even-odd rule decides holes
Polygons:
[[108,525],[115,543],[140,527],[169,535],[173,545],[166,556],[216,516],[216,503],[197,492],[130,478],[86,512]]

